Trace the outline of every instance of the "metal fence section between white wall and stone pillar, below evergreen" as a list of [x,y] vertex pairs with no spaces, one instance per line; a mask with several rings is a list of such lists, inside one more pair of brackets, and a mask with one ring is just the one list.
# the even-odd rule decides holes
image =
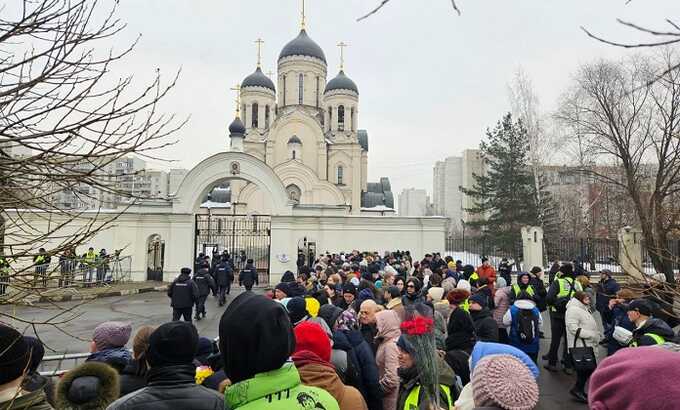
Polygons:
[[477,267],[481,264],[482,257],[487,257],[493,266],[498,266],[501,259],[507,258],[511,262],[515,262],[515,269],[521,270],[523,253],[524,248],[521,239],[514,241],[510,246],[500,246],[495,241],[491,241],[486,237],[449,237],[446,239],[445,256],[451,256],[454,260],[460,260],[463,262],[463,265]]

